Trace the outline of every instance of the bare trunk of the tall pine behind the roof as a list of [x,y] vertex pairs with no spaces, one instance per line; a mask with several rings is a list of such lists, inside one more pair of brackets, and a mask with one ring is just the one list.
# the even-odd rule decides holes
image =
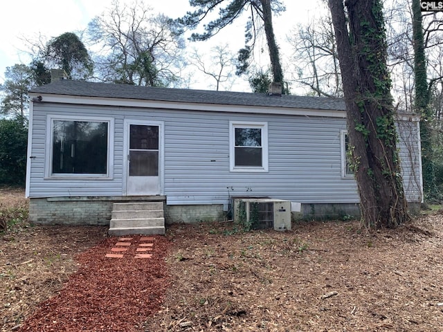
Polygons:
[[275,41],[275,35],[272,26],[271,0],[260,1],[263,8],[264,33],[266,35],[266,42],[269,48],[269,58],[271,59],[273,80],[274,82],[281,83],[282,89],[285,89],[283,82],[282,65],[280,64],[280,52],[278,50],[277,42]]

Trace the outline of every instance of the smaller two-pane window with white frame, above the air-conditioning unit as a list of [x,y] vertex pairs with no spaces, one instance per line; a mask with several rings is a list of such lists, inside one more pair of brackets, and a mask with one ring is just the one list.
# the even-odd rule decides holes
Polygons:
[[268,172],[266,122],[230,122],[230,171]]

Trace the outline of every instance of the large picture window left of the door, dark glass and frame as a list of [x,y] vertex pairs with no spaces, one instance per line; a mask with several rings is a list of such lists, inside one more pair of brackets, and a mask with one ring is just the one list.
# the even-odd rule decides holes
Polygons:
[[49,126],[48,176],[111,176],[112,119],[50,117]]

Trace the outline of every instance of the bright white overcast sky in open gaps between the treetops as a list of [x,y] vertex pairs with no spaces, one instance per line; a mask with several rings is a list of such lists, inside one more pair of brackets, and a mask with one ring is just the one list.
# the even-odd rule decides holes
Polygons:
[[[120,0],[120,3],[132,0]],[[154,10],[176,18],[186,13],[190,7],[188,0],[145,0]],[[275,34],[281,45],[289,30],[316,15],[316,0],[282,0],[287,7],[280,17],[274,17]],[[28,64],[30,57],[24,39],[37,40],[39,35],[57,37],[62,33],[84,30],[93,17],[100,15],[111,5],[111,0],[3,0],[0,10],[0,82],[4,80],[7,66],[17,63]],[[233,27],[238,33],[220,34],[233,51],[235,44],[244,43],[244,26]],[[234,38],[234,39],[233,39]]]

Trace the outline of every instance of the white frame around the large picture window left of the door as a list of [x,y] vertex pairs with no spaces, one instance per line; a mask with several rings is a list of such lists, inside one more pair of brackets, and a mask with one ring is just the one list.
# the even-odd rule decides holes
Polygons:
[[[82,121],[82,122],[107,122],[108,123],[108,154],[106,174],[53,174],[53,128],[54,121]],[[45,179],[87,179],[87,180],[111,180],[114,178],[114,118],[94,116],[62,116],[48,115],[46,117],[46,156],[45,156]]]

